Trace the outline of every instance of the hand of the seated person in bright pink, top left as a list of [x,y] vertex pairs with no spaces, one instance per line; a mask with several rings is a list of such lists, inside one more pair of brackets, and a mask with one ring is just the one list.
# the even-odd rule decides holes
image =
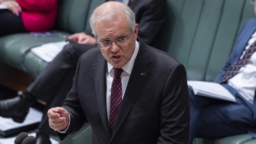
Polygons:
[[7,6],[10,11],[13,12],[14,15],[19,17],[20,12],[22,11],[20,5],[16,0],[4,0],[0,1],[0,4]]

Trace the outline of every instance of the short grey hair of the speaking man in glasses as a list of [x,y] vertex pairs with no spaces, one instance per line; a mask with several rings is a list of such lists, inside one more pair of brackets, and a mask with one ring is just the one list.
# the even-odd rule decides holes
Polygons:
[[[102,5],[106,5],[106,3]],[[111,19],[115,20],[120,16],[120,14],[126,17],[129,29],[134,32],[134,27],[136,24],[135,15],[132,9],[130,9],[130,7],[120,2],[119,4],[107,4],[107,6],[102,5],[96,7],[96,9],[93,11],[90,17],[91,29],[95,36],[96,31],[94,25],[96,22],[104,22]]]

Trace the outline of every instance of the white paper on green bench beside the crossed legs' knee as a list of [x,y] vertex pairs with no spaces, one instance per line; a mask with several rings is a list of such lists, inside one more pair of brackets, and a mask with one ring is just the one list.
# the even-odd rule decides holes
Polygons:
[[69,42],[51,42],[32,48],[31,52],[49,63],[61,52],[66,44],[69,44]]

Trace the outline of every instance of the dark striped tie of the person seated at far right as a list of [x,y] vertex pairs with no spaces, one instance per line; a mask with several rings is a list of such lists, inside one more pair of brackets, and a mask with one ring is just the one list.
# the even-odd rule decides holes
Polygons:
[[228,79],[235,76],[239,69],[243,67],[247,61],[250,60],[250,57],[256,51],[256,41],[245,51],[245,55],[241,59],[237,61],[235,65],[233,65],[229,70],[226,71],[226,74],[223,76],[221,83],[225,83]]

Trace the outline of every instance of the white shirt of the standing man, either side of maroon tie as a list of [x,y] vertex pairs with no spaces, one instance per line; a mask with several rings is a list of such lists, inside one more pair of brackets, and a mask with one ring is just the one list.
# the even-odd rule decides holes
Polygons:
[[[128,61],[122,67],[122,69],[124,70],[120,76],[121,83],[122,83],[122,98],[124,97],[124,92],[126,90],[130,75],[132,73],[132,68],[134,67],[134,61],[137,57],[138,52],[139,52],[139,42],[135,41],[134,54],[132,54],[130,61]],[[106,69],[106,85],[107,85],[106,105],[107,105],[108,121],[110,117],[110,96],[111,96],[111,86],[112,86],[113,77],[114,77],[113,66],[110,63],[108,63],[108,66]]]

